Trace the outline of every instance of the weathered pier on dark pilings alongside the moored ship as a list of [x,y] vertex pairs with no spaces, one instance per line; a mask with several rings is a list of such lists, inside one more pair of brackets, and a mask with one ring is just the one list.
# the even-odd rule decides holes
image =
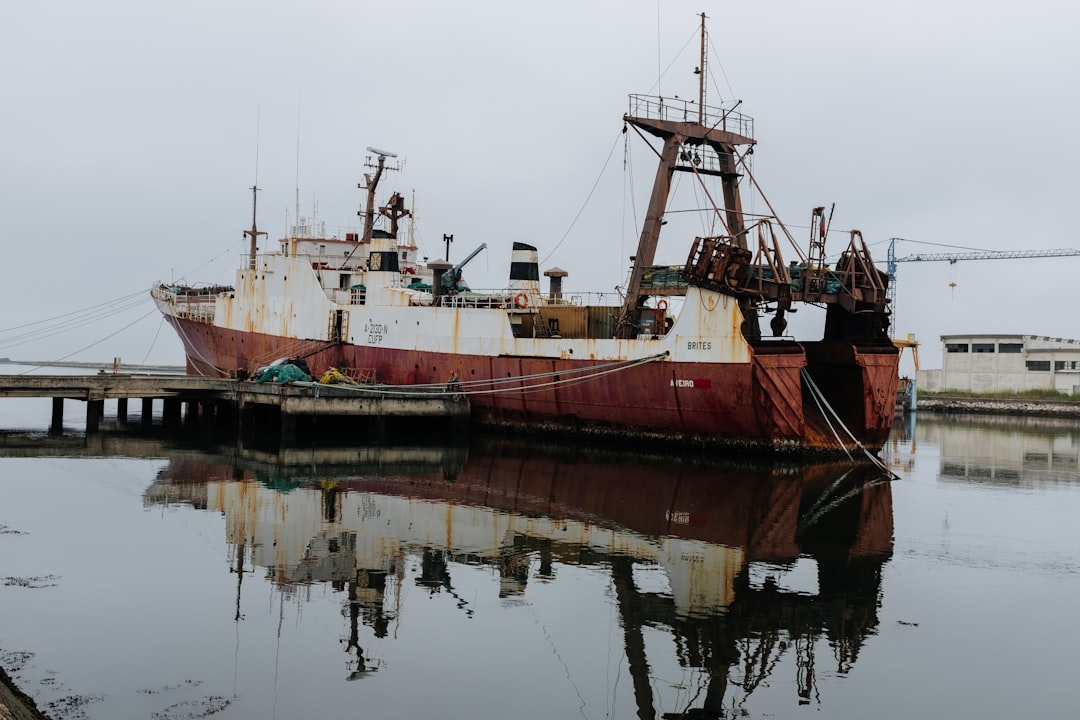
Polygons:
[[445,418],[468,420],[469,400],[460,393],[441,389],[389,385],[329,385],[309,383],[255,383],[244,380],[186,375],[70,375],[0,376],[0,397],[52,398],[49,431],[64,430],[64,400],[86,404],[86,434],[100,431],[106,400],[116,400],[117,421],[127,422],[127,405],[141,400],[140,422],[153,422],[153,404],[161,402],[166,426],[201,420],[237,418],[280,420],[280,440],[295,440],[298,422],[319,417],[367,419],[378,433],[389,418]]

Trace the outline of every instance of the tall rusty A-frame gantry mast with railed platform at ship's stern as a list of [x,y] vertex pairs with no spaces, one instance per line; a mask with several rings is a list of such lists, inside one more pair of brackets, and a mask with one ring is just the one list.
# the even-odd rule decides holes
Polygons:
[[631,95],[630,112],[623,116],[623,122],[638,131],[638,135],[644,131],[660,138],[663,148],[652,181],[652,194],[642,226],[637,253],[633,257],[634,266],[626,285],[626,297],[617,323],[616,337],[619,338],[633,338],[637,335],[642,307],[648,297],[647,293],[642,291],[642,279],[656,258],[672,176],[676,171],[720,178],[728,234],[733,244],[746,247],[735,147],[755,144],[751,136],[753,121],[735,112],[739,103],[728,108],[710,108],[705,105],[705,14],[702,13],[696,120],[688,120],[693,117],[689,107],[692,101],[688,104],[677,98],[645,95]]

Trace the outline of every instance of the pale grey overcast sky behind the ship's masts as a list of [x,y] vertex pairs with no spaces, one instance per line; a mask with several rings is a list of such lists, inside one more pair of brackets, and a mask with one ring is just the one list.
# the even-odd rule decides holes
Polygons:
[[[415,192],[422,255],[443,255],[443,233],[451,260],[488,244],[474,287],[504,285],[522,241],[571,289],[611,290],[654,169],[633,134],[626,154],[626,96],[696,95],[702,11],[708,101],[743,100],[755,175],[800,240],[810,209],[836,203],[829,254],[858,228],[882,266],[893,236],[1080,247],[1080,5],[1059,0],[13,0],[0,330],[156,280],[231,283],[256,181],[271,240],[297,188],[301,215],[355,226],[368,146],[404,160],[381,189]],[[658,261],[683,263],[691,235],[666,235]],[[924,343],[923,367],[940,367],[942,334],[1080,338],[1078,277],[1080,258],[904,263],[895,334]],[[135,322],[148,296],[104,308],[63,336],[0,334],[0,356],[116,332],[79,358],[181,362],[157,314]]]

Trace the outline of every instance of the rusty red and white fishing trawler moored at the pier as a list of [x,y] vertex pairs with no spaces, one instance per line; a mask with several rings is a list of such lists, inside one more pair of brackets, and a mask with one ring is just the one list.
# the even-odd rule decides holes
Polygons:
[[[327,237],[303,225],[259,253],[253,202],[251,248],[232,285],[153,285],[187,371],[242,379],[302,358],[315,377],[336,368],[396,392],[465,394],[474,423],[513,432],[739,452],[880,450],[899,366],[888,275],[858,230],[826,258],[825,206],[809,213],[805,248],[768,201],[770,214],[743,210],[743,191],[759,192],[754,122],[741,100],[706,103],[704,38],[703,19],[697,100],[629,97],[624,132],[654,146],[658,162],[620,293],[571,293],[559,268],[544,271],[544,290],[538,249],[522,242],[500,289],[465,280],[484,246],[458,263],[421,262],[404,196],[377,200],[395,155],[369,147],[357,232]],[[716,232],[686,237],[685,260],[663,264],[676,174],[700,184]],[[787,332],[788,313],[804,307],[825,313],[810,339]]]

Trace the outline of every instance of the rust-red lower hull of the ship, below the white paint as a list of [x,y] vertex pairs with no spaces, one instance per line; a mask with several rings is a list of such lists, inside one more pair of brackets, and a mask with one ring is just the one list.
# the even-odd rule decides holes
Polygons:
[[[393,385],[464,383],[580,371],[592,361],[484,356],[284,339],[167,316],[198,375],[230,376],[281,356],[303,355],[313,373],[329,367],[367,368]],[[808,394],[804,367],[864,447],[880,448],[892,422],[895,352],[845,348],[840,359],[786,352],[754,354],[751,363],[638,365],[582,382],[529,383],[470,399],[482,423],[530,431],[624,439],[674,440],[746,449],[840,451],[835,421]],[[835,355],[836,353],[833,353]],[[894,402],[894,400],[893,400]],[[843,437],[843,444],[853,444]]]

